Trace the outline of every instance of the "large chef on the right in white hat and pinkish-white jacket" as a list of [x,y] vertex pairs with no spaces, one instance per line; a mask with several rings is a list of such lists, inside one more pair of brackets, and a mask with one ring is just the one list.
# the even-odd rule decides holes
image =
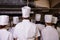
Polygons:
[[58,32],[52,26],[52,15],[45,15],[46,28],[42,30],[43,40],[59,40]]

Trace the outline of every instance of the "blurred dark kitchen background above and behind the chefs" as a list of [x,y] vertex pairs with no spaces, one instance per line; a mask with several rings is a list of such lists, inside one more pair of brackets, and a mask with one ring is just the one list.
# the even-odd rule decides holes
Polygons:
[[[9,15],[9,26],[12,26],[13,16],[18,16],[20,22],[22,21],[21,8],[26,5],[27,0],[0,0],[0,15]],[[42,15],[42,23],[44,23],[45,14],[52,14],[58,17],[57,26],[60,27],[60,0],[28,0],[28,6],[32,8],[31,22],[35,23],[35,14]]]

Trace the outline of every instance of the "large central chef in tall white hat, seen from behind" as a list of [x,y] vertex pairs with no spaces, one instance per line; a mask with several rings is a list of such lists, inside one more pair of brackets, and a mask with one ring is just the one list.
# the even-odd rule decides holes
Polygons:
[[14,39],[15,40],[38,40],[40,36],[36,25],[29,21],[31,8],[24,6],[22,8],[22,22],[15,26]]

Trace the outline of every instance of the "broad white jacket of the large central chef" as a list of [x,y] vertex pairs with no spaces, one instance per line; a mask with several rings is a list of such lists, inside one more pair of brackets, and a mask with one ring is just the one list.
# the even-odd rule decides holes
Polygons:
[[34,40],[38,36],[40,34],[36,25],[29,20],[24,19],[15,26],[14,38],[18,38],[18,40]]

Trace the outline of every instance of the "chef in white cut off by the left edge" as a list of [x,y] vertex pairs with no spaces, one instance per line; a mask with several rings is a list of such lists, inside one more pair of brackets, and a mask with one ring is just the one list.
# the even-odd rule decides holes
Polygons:
[[0,40],[13,40],[13,36],[5,28],[9,23],[9,16],[0,15]]

